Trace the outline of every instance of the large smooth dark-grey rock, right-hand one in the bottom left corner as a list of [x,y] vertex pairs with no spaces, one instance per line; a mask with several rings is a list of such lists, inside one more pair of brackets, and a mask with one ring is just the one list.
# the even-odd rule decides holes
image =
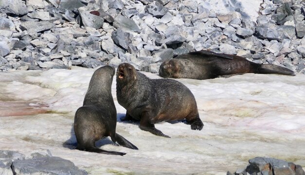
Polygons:
[[15,160],[13,161],[12,169],[18,175],[87,175],[87,172],[79,170],[70,160],[60,157]]

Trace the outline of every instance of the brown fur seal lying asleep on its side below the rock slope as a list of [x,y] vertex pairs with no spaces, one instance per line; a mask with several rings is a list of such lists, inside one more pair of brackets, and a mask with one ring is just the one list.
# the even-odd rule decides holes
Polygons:
[[159,69],[159,75],[162,77],[199,80],[241,73],[294,75],[294,72],[287,68],[273,64],[256,64],[241,56],[211,51],[198,51],[178,55],[164,61]]

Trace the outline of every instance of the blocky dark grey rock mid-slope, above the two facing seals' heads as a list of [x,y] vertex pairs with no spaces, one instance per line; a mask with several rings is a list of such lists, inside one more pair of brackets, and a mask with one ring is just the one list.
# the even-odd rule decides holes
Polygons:
[[133,35],[127,32],[124,32],[121,29],[112,32],[112,39],[115,44],[123,47],[124,49],[128,49],[129,44],[133,40]]

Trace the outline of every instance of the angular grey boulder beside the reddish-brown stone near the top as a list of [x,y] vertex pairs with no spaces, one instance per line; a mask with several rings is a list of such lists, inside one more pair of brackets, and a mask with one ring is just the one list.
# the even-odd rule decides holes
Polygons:
[[82,24],[85,27],[92,27],[95,29],[99,29],[103,27],[104,18],[91,14],[90,8],[80,7],[78,8],[78,12],[80,17],[82,18]]

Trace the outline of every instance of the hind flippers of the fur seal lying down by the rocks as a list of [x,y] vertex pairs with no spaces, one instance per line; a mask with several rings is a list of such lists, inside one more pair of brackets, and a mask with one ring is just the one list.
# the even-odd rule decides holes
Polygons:
[[258,67],[257,73],[277,73],[277,74],[283,74],[283,75],[295,75],[294,71],[289,70],[287,68],[273,65],[273,64],[262,64]]

